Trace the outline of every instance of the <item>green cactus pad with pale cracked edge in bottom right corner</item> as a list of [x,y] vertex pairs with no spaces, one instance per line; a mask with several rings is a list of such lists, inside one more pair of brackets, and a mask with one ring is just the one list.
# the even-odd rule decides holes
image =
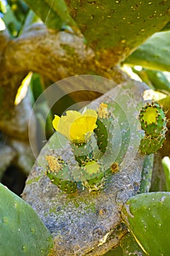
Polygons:
[[147,255],[170,255],[169,212],[169,192],[136,195],[123,206],[123,221]]

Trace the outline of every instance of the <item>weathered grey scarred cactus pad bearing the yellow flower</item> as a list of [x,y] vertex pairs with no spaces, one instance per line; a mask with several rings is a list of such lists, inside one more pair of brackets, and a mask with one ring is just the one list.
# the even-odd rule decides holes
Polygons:
[[[73,78],[69,79],[74,83]],[[26,181],[23,198],[34,207],[52,233],[55,241],[53,255],[104,255],[109,249],[120,244],[120,239],[127,233],[125,225],[122,225],[120,211],[126,200],[136,194],[140,187],[144,156],[137,153],[141,136],[139,110],[136,110],[136,105],[137,102],[143,102],[142,95],[146,89],[147,86],[143,83],[130,81],[123,86],[115,86],[108,94],[104,94],[87,106],[88,109],[97,110],[101,102],[107,102],[107,109],[112,110],[113,135],[112,144],[109,144],[112,157],[107,154],[108,143],[105,144],[107,148],[106,146],[103,149],[99,148],[100,142],[95,132],[90,137],[89,146],[96,152],[93,155],[95,159],[93,157],[91,161],[88,159],[88,165],[84,162],[82,169],[74,157],[71,143],[61,133],[56,131],[42,148]],[[69,173],[65,181],[76,181],[77,192],[66,193],[52,184],[46,174],[49,165],[47,156],[53,156],[55,159],[60,156],[59,164],[63,165],[67,162],[69,167],[72,166],[74,170],[72,174],[75,178],[69,178]],[[86,168],[88,174],[85,175],[93,175],[90,181],[87,180],[88,183],[92,182],[92,178],[100,175],[98,173],[100,161],[96,162],[98,156],[101,157],[100,161],[103,161],[103,170],[111,167],[113,173],[108,179],[104,176],[104,181],[98,177],[98,186],[101,178],[104,189],[89,192],[88,188],[81,188],[82,182],[87,180],[81,178],[81,174]],[[58,177],[62,178],[62,176]]]

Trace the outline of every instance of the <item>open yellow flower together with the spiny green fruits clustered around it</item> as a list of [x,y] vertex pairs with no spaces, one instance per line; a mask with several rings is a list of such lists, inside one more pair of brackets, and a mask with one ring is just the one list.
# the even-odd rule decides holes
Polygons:
[[[78,189],[93,192],[104,189],[106,179],[118,171],[118,165],[112,171],[115,164],[112,162],[112,112],[108,110],[107,104],[101,102],[97,113],[95,110],[85,110],[85,113],[81,114],[71,110],[66,112],[66,116],[55,116],[53,120],[55,129],[69,138],[74,155],[73,165],[60,157],[57,159],[54,156],[46,156],[47,176],[63,192],[74,193]],[[64,129],[66,125],[69,132]],[[107,165],[106,160],[102,159],[105,153]]]

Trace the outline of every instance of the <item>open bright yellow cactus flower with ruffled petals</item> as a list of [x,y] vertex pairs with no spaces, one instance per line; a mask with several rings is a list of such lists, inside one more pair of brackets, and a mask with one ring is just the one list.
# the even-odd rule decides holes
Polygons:
[[85,110],[84,113],[75,110],[66,111],[61,118],[55,115],[53,127],[74,143],[86,143],[95,129],[97,113],[95,110]]

